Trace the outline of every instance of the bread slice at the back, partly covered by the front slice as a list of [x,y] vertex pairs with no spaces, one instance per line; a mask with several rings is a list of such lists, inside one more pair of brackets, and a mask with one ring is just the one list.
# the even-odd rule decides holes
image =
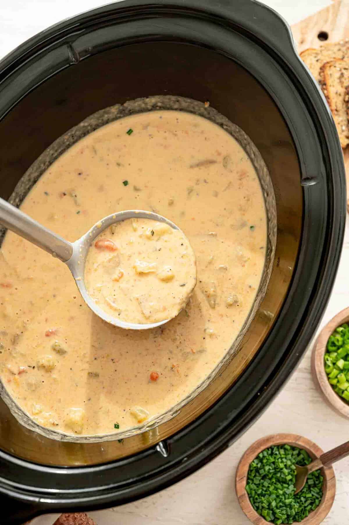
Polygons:
[[336,58],[349,59],[349,41],[346,39],[337,44],[323,44],[318,49],[310,47],[302,51],[300,57],[313,77],[320,82],[320,68],[325,62]]

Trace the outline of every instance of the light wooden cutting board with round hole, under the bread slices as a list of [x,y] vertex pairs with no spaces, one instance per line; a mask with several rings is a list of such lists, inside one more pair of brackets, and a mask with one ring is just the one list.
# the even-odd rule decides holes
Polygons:
[[[291,26],[293,38],[301,53],[308,47],[349,38],[349,0],[338,0],[329,7]],[[343,151],[346,172],[347,210],[349,212],[349,146]]]

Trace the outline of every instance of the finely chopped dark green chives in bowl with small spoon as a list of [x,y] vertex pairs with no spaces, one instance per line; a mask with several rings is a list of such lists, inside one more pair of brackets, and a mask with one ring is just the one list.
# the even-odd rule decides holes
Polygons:
[[278,445],[261,451],[249,466],[245,487],[256,512],[280,525],[300,522],[315,510],[322,498],[320,470],[311,472],[302,490],[295,495],[295,465],[309,463],[307,451],[298,447]]

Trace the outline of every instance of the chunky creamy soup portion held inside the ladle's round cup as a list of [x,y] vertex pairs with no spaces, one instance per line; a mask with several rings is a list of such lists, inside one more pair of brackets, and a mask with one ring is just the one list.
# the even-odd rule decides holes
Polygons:
[[152,219],[112,224],[94,241],[85,264],[90,297],[129,323],[172,319],[197,282],[197,265],[181,230]]

